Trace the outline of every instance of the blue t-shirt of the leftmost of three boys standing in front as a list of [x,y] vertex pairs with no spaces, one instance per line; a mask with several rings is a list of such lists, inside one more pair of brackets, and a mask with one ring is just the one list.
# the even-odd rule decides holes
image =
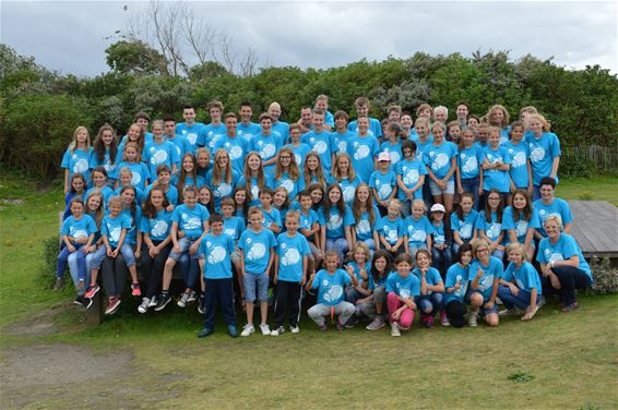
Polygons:
[[204,255],[204,278],[231,278],[231,258],[234,252],[233,239],[227,234],[214,236],[209,233],[200,243],[200,253]]

